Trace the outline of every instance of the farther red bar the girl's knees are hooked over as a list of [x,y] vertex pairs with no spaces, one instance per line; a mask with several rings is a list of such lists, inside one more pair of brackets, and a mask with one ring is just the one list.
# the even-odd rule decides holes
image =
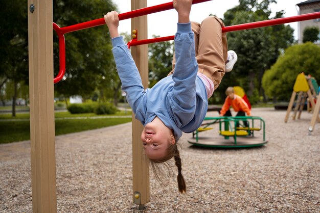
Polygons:
[[[305,21],[305,20],[316,19],[316,18],[320,18],[320,12],[307,13],[307,14],[303,14],[303,15],[284,17],[284,18],[275,18],[275,19],[257,21],[257,22],[252,22],[252,23],[243,23],[243,24],[237,24],[237,25],[233,25],[233,26],[225,26],[224,28],[222,28],[222,32],[227,33],[227,32],[232,32],[232,31],[248,30],[248,29],[253,29],[253,28],[262,28],[264,26],[272,26],[272,25],[290,23],[290,22],[295,22],[295,21]],[[163,42],[163,41],[170,41],[170,40],[174,40],[174,36],[159,37],[159,38],[144,39],[144,40],[133,39],[130,42],[128,42],[128,47],[142,45],[142,44]]]

